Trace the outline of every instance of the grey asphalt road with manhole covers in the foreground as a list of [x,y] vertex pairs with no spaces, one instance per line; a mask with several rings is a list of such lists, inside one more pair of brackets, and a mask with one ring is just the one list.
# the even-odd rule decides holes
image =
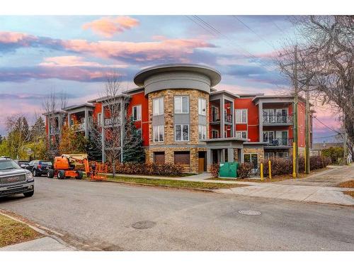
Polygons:
[[32,198],[0,199],[0,209],[84,250],[354,250],[344,206],[36,177]]

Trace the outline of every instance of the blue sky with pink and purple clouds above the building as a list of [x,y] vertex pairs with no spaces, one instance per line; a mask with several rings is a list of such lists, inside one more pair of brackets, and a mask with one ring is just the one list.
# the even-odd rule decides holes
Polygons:
[[[183,62],[221,72],[218,90],[290,92],[273,57],[294,36],[287,16],[0,16],[0,134],[8,116],[42,113],[53,90],[68,105],[100,96],[111,70],[122,90],[142,68]],[[339,128],[327,106],[314,109]],[[322,123],[314,120],[314,142],[335,134]]]

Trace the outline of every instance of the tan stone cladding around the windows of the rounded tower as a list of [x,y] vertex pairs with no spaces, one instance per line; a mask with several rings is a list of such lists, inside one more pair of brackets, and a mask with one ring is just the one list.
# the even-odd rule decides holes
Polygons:
[[[189,141],[174,140],[174,96],[189,96]],[[164,96],[164,142],[154,143],[152,126],[152,100]],[[165,162],[174,163],[175,151],[190,151],[190,165],[181,165],[183,172],[198,172],[198,152],[206,151],[206,144],[200,142],[198,133],[198,99],[207,100],[207,118],[209,118],[209,94],[197,89],[165,89],[159,92],[148,94],[149,101],[149,150],[147,151],[147,162],[154,162],[154,152],[165,152]],[[209,123],[207,123],[207,133],[209,132]],[[176,147],[166,148],[164,145],[174,145]],[[192,145],[192,147],[185,147]],[[205,148],[193,147],[193,145],[205,145]]]

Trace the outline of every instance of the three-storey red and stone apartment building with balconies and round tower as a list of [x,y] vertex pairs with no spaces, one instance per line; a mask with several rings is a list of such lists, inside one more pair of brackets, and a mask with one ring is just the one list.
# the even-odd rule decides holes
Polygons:
[[[220,80],[217,70],[202,65],[149,67],[135,75],[137,88],[122,92],[114,101],[103,97],[69,106],[64,110],[65,121],[69,125],[79,121],[79,130],[87,137],[89,121],[97,121],[103,161],[110,128],[117,120],[122,136],[123,124],[131,116],[141,132],[146,161],[180,165],[184,172],[204,172],[215,162],[251,162],[257,167],[269,157],[290,156],[293,96],[217,91],[214,87]],[[115,117],[105,111],[110,104],[119,106]],[[300,98],[299,153],[304,150],[304,108],[304,99]],[[47,126],[48,135],[52,131],[59,132],[55,126]]]

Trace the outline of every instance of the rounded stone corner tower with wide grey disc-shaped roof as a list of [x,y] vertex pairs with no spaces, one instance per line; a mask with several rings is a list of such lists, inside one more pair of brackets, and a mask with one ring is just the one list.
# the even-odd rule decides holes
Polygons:
[[158,65],[137,73],[149,100],[147,161],[178,164],[184,172],[206,170],[209,94],[221,75],[202,65]]

